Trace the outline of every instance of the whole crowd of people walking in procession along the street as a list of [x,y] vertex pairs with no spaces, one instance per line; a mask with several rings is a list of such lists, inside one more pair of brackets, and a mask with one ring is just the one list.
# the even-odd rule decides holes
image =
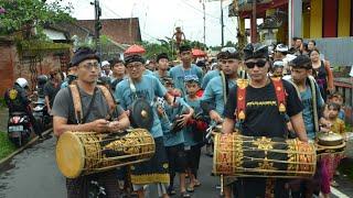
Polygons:
[[[330,63],[314,41],[306,44],[295,38],[291,48],[258,43],[248,44],[244,52],[224,47],[215,58],[197,62],[188,45],[181,45],[178,53],[180,64],[172,67],[172,59],[163,52],[148,63],[132,54],[99,64],[96,53],[83,47],[72,57],[65,78],[58,70],[51,72],[44,95],[57,136],[66,131],[124,131],[130,127],[130,107],[140,98],[153,110],[149,129],[156,143],[153,157],[133,166],[67,178],[67,197],[87,197],[92,180],[104,186],[108,197],[130,191],[145,197],[150,184],[157,184],[160,197],[169,197],[178,194],[176,175],[181,197],[192,197],[202,183],[201,150],[206,145],[207,155],[214,152],[205,139],[210,125],[222,124],[223,133],[239,131],[248,136],[297,138],[302,142],[315,141],[320,131],[345,133],[343,98],[334,92]],[[97,85],[111,92],[113,108]],[[78,116],[72,86],[82,101]],[[304,197],[321,191],[329,197],[330,186],[338,185],[333,175],[341,158],[322,157],[315,177],[299,182],[223,177],[223,193],[225,197]]]

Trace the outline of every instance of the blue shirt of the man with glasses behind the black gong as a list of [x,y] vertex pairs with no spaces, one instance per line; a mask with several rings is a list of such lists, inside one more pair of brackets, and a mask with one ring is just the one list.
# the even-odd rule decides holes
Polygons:
[[[149,103],[153,103],[156,97],[164,97],[167,94],[162,84],[156,77],[149,75],[142,75],[141,80],[139,82],[135,82],[135,87],[137,97],[145,98]],[[127,110],[129,106],[132,105],[136,95],[130,89],[130,79],[124,79],[117,85],[115,97],[120,102],[122,109]],[[159,138],[163,135],[161,122],[157,114],[157,109],[152,109],[154,119],[150,132],[153,138]]]

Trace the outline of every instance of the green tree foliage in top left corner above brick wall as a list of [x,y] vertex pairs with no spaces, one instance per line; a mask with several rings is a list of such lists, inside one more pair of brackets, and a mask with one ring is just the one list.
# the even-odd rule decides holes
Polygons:
[[44,25],[72,21],[72,6],[62,6],[62,0],[0,0],[4,13],[0,14],[0,34],[29,32],[33,28],[41,30]]

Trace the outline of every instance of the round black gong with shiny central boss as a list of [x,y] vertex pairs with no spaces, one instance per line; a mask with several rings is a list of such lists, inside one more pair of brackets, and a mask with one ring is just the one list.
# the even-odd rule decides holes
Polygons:
[[131,125],[150,130],[153,125],[153,111],[151,106],[142,98],[135,100],[131,105]]

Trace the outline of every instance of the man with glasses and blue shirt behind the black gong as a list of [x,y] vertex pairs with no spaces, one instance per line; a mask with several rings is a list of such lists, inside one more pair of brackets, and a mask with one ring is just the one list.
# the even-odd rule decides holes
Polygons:
[[[167,92],[160,80],[154,76],[143,75],[143,63],[145,61],[140,55],[125,57],[129,77],[118,84],[115,91],[116,99],[127,111],[132,102],[140,98],[148,103],[153,103],[157,97],[164,98],[170,106],[174,107],[174,97]],[[139,197],[145,197],[145,187],[150,184],[158,184],[159,195],[168,197],[167,187],[170,177],[163,132],[157,108],[152,108],[152,111],[153,123],[149,131],[154,139],[156,154],[150,161],[131,166],[131,183]]]

